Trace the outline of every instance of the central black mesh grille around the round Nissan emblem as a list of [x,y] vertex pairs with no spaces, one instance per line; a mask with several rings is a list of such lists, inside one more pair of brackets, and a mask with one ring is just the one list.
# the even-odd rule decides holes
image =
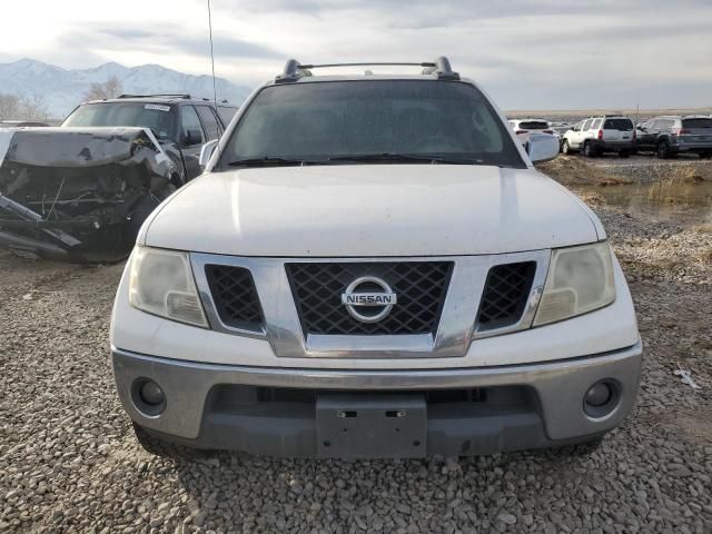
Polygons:
[[[452,261],[286,264],[305,334],[431,334],[437,330]],[[342,304],[357,278],[375,276],[397,295],[397,304],[378,323],[362,323]]]

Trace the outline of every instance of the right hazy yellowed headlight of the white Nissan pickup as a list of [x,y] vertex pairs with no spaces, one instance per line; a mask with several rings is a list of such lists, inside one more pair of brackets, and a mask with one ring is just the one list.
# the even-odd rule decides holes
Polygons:
[[534,326],[585,314],[613,300],[615,283],[607,243],[560,248],[552,253]]

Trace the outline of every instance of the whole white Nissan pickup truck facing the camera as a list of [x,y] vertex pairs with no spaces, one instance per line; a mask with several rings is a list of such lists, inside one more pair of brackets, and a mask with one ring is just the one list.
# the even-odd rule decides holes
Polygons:
[[587,452],[631,412],[633,303],[597,217],[532,165],[556,139],[525,152],[446,58],[398,65],[418,73],[288,61],[144,224],[111,358],[148,451]]

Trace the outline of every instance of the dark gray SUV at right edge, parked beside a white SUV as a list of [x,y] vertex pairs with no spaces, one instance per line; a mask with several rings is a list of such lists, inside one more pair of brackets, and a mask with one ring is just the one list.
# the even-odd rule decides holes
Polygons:
[[693,152],[712,157],[712,118],[704,116],[664,116],[637,126],[637,149],[659,158]]

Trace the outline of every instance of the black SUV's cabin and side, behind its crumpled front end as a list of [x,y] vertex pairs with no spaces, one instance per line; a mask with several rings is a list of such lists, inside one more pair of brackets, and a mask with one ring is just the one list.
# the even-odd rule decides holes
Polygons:
[[121,95],[77,107],[62,127],[138,126],[150,128],[164,151],[177,164],[180,187],[198,176],[202,145],[220,137],[237,108],[190,95]]

